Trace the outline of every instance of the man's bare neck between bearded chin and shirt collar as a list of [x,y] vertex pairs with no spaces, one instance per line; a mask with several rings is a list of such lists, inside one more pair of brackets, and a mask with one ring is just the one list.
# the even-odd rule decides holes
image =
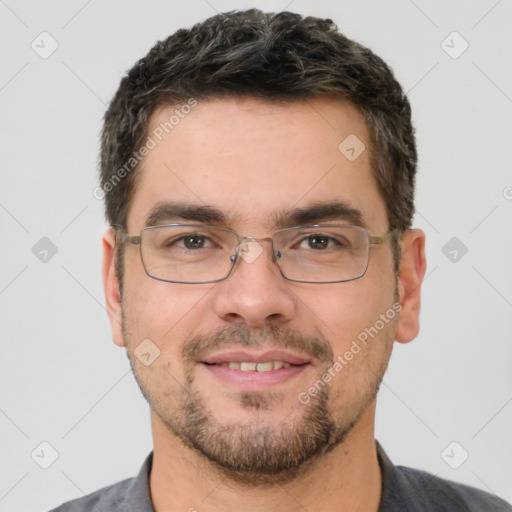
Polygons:
[[155,512],[265,511],[377,512],[381,474],[373,425],[375,402],[343,442],[309,472],[273,487],[247,487],[221,475],[170,433],[152,411],[151,499]]

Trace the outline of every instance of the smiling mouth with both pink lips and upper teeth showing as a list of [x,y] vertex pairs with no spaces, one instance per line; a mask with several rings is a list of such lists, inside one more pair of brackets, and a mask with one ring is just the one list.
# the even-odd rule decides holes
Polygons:
[[257,391],[283,384],[313,364],[304,356],[282,350],[260,353],[241,350],[206,357],[200,367],[238,390]]

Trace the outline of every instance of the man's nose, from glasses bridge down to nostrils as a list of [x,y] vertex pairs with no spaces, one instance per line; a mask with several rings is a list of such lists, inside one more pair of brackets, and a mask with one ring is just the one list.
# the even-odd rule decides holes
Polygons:
[[296,312],[296,298],[266,243],[246,239],[229,277],[215,287],[214,310],[225,322],[252,328],[286,323]]

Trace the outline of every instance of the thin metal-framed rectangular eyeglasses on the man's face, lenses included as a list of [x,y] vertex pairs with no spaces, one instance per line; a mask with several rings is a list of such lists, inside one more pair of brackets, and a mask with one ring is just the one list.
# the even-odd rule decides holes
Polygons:
[[272,259],[285,279],[302,283],[341,283],[361,278],[370,245],[382,244],[396,230],[373,236],[365,228],[332,224],[280,229],[272,238],[241,237],[234,231],[200,224],[144,228],[139,236],[120,233],[120,241],[139,245],[146,274],[170,283],[215,283],[226,279],[244,259],[272,244]]

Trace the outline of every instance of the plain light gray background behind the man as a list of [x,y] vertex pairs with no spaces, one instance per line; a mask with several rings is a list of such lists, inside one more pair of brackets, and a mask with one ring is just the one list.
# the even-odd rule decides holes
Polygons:
[[[376,437],[395,463],[512,500],[510,0],[0,0],[0,511],[44,511],[133,476],[152,448],[104,310],[101,119],[157,40],[251,6],[331,17],[409,92],[428,270],[421,334],[396,346]],[[42,31],[59,45],[46,59],[31,47],[50,48]],[[456,59],[445,49],[462,40],[441,46],[453,31],[469,43]],[[42,237],[58,248],[46,263],[32,252]],[[456,262],[442,252],[452,237],[468,248]],[[48,469],[31,458],[50,460],[43,441],[59,454]],[[452,465],[469,453],[458,469],[441,456],[453,441]]]

